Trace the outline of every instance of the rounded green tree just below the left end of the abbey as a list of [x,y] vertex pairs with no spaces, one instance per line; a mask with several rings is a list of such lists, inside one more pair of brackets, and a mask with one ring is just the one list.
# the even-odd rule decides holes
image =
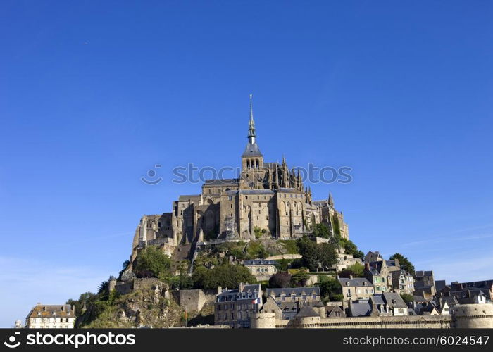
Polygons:
[[137,253],[135,275],[137,277],[170,278],[171,259],[157,246],[146,246]]

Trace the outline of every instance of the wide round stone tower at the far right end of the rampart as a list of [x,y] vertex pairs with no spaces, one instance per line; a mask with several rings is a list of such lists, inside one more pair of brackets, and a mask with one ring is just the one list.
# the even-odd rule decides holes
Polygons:
[[492,329],[493,304],[458,304],[452,308],[452,317],[457,329]]

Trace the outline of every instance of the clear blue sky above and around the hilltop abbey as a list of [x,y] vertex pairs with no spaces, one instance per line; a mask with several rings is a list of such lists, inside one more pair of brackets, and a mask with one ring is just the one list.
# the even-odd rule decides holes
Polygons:
[[[143,214],[237,166],[349,166],[363,250],[492,279],[491,1],[2,1],[0,326],[96,290]],[[155,186],[140,177],[161,164]]]

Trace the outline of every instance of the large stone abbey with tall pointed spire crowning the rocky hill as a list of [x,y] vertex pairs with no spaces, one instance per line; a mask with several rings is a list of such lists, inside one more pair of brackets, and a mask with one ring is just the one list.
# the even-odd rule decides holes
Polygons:
[[332,194],[313,201],[311,189],[304,187],[299,172],[290,170],[284,157],[282,163],[264,161],[256,139],[250,96],[241,174],[235,179],[207,180],[201,194],[179,196],[171,213],[144,215],[135,245],[254,239],[256,232],[274,239],[293,239],[311,233],[320,222],[349,239],[347,224],[335,210]]

